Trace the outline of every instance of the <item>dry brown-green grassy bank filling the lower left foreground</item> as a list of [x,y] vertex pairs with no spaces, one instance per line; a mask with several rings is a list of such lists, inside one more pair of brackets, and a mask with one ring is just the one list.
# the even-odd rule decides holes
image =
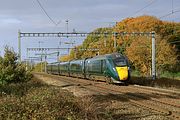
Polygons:
[[97,106],[90,98],[76,98],[35,78],[27,83],[0,86],[1,120],[104,118],[103,107],[98,110]]

